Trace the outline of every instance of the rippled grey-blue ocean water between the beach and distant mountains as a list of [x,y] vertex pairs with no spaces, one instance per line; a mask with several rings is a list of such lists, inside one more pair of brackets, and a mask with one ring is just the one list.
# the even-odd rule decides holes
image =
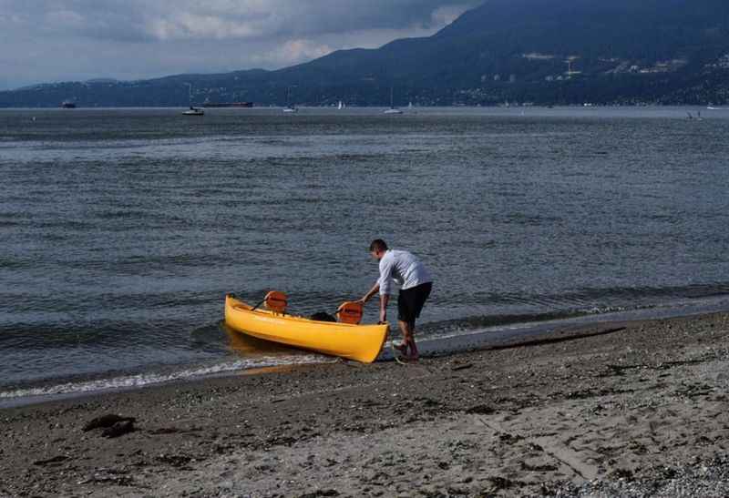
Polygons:
[[0,110],[0,399],[331,361],[224,295],[332,312],[374,238],[434,274],[423,340],[723,299],[729,111],[697,111]]

